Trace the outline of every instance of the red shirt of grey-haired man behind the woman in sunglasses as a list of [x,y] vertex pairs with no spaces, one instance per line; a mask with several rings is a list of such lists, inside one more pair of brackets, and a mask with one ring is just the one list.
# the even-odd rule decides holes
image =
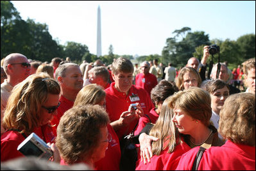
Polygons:
[[69,101],[66,99],[63,95],[60,96],[60,106],[57,109],[57,115],[53,116],[53,119],[51,120],[51,125],[53,126],[53,133],[55,136],[57,135],[57,127],[60,123],[60,118],[64,115],[65,111],[71,109],[74,105],[73,101]]

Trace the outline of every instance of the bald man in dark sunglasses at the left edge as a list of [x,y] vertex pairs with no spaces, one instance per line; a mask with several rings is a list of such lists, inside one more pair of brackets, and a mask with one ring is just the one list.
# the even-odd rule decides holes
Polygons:
[[30,66],[28,58],[20,53],[8,54],[4,58],[3,68],[7,79],[1,84],[1,111],[6,107],[13,86],[30,76]]

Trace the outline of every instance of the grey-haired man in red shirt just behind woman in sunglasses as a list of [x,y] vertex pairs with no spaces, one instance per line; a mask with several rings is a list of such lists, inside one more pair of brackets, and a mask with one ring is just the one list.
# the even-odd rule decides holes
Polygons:
[[56,79],[60,84],[61,95],[60,107],[57,109],[58,114],[53,116],[53,120],[51,120],[55,135],[60,118],[65,111],[73,107],[76,95],[83,88],[83,76],[79,65],[76,63],[64,63],[56,69]]

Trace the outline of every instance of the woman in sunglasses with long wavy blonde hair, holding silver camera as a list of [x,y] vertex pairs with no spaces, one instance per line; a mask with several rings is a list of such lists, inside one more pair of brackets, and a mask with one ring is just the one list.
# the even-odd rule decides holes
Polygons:
[[48,143],[55,161],[60,160],[49,125],[60,105],[59,95],[60,86],[46,73],[28,76],[14,86],[4,111],[3,127],[6,131],[1,135],[1,161],[24,156],[17,147],[31,133]]

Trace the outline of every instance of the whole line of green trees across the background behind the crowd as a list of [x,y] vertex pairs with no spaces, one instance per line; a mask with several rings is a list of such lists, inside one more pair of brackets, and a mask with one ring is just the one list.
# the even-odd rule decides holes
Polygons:
[[[209,40],[209,35],[204,31],[191,32],[191,28],[184,27],[173,31],[173,37],[166,39],[166,46],[162,54],[139,56],[137,61],[153,60],[167,65],[171,62],[175,67],[184,66],[192,56],[201,59],[203,46],[216,44],[220,47],[221,61],[228,61],[232,65],[239,65],[249,58],[255,58],[255,34],[242,35],[237,40]],[[69,57],[76,63],[83,60],[87,62],[102,60],[107,65],[112,63],[119,54],[114,54],[114,47],[110,45],[107,55],[96,56],[90,53],[87,45],[76,42],[59,44],[53,40],[46,24],[35,23],[34,20],[22,20],[19,12],[10,1],[1,1],[1,59],[10,53],[22,53],[32,60],[51,61],[52,58]],[[133,60],[133,56],[121,55]],[[209,60],[212,57],[209,58]],[[217,56],[213,58],[216,63]]]

